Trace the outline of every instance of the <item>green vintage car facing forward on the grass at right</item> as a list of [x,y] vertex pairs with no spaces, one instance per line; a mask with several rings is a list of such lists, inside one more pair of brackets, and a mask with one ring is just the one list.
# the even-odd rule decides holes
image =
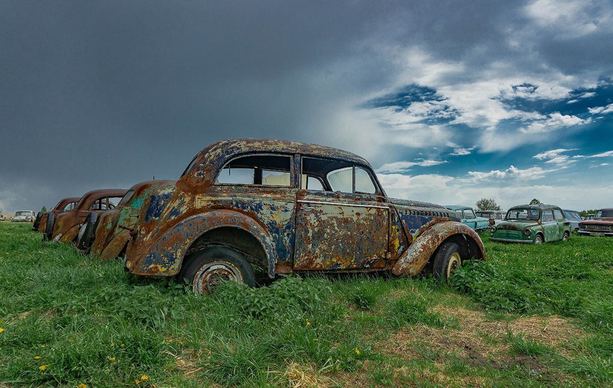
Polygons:
[[542,244],[568,241],[571,223],[554,205],[519,205],[506,212],[504,221],[490,227],[490,240],[504,243]]

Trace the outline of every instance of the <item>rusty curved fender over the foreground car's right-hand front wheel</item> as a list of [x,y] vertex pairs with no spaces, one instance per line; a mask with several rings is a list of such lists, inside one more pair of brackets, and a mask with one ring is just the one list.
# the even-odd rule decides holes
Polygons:
[[454,235],[465,235],[467,239],[473,240],[478,250],[474,253],[475,256],[485,260],[485,247],[477,232],[465,224],[449,219],[433,219],[418,230],[411,246],[392,267],[392,273],[394,275],[416,275],[428,264],[430,257],[441,243]]

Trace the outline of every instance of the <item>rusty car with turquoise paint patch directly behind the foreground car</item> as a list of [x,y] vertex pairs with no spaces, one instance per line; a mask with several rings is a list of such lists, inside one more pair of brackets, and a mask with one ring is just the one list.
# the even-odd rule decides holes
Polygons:
[[130,240],[130,231],[139,217],[143,200],[151,188],[175,181],[154,180],[132,186],[113,210],[105,211],[100,217],[90,213],[78,234],[77,248],[89,251],[91,256],[101,260],[115,259],[125,251]]

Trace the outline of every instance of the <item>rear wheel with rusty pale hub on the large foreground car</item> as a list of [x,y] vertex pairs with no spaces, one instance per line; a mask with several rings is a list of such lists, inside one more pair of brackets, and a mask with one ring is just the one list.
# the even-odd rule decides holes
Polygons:
[[185,257],[177,277],[191,284],[194,294],[202,295],[210,294],[221,280],[253,287],[255,276],[242,253],[226,246],[209,246]]

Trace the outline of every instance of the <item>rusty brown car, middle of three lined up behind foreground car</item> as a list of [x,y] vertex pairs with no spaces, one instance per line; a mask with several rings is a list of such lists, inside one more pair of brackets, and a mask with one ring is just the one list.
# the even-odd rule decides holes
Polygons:
[[61,242],[76,242],[79,228],[92,211],[103,213],[104,211],[115,208],[115,203],[126,194],[126,189],[99,189],[86,192],[78,200],[77,205],[70,210],[47,215],[45,233],[43,240],[53,240]]

